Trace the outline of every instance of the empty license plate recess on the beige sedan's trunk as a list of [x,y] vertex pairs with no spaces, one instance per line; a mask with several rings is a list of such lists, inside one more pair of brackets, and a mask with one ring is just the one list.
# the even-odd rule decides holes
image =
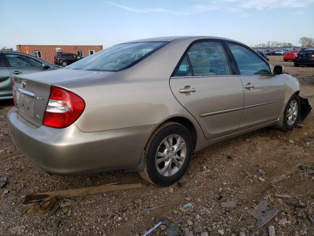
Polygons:
[[35,94],[25,89],[18,88],[16,90],[15,98],[19,111],[26,116],[33,118]]

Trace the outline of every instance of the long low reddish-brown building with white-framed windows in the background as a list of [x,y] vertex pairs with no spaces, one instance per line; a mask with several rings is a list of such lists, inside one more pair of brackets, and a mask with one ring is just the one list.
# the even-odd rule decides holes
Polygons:
[[16,45],[16,50],[53,64],[54,55],[58,53],[74,53],[87,57],[103,50],[103,45]]

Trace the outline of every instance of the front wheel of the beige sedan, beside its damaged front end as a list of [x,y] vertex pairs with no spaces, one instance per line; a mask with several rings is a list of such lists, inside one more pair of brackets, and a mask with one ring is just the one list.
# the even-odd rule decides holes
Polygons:
[[[296,109],[293,109],[295,106]],[[297,94],[294,94],[288,101],[284,114],[279,119],[279,123],[275,125],[276,128],[283,131],[292,130],[297,125],[300,117],[300,98]]]

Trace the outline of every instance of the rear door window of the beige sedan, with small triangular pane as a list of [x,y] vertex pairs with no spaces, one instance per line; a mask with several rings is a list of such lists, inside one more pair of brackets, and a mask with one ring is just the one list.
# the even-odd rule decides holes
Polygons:
[[195,43],[188,50],[187,57],[192,68],[189,68],[187,59],[184,58],[174,76],[184,76],[180,74],[185,69],[187,75],[192,73],[193,76],[232,75],[229,60],[220,42]]

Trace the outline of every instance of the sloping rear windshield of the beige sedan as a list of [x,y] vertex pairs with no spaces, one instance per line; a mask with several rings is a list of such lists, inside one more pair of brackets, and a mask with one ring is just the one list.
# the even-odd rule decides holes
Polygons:
[[156,52],[167,42],[125,43],[112,46],[67,66],[65,69],[119,71]]

